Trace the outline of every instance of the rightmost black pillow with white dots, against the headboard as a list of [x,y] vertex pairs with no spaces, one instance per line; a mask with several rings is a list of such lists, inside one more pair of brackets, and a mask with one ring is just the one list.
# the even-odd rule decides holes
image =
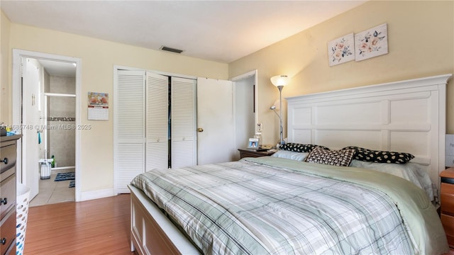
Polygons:
[[355,155],[353,159],[363,162],[405,164],[414,158],[412,154],[404,152],[384,152],[355,146],[349,146],[343,149],[354,149]]

